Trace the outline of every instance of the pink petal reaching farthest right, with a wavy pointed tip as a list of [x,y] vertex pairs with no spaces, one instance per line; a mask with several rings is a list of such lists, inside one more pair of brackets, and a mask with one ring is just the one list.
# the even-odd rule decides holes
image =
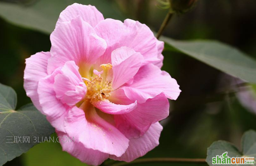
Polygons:
[[133,83],[124,85],[122,89],[129,99],[137,100],[138,103],[144,103],[160,93],[164,93],[169,99],[176,100],[181,92],[174,78],[152,64],[141,67],[134,76]]

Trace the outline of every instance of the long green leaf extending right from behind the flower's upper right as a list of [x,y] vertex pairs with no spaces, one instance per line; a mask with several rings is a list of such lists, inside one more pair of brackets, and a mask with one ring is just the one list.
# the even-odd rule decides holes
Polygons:
[[256,83],[256,60],[227,44],[212,40],[178,41],[161,38],[169,46],[166,50],[189,55],[227,74]]

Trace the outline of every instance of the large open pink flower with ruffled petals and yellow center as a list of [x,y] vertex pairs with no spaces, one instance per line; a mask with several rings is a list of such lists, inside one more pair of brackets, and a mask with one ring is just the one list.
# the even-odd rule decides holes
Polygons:
[[82,162],[132,161],[159,144],[177,81],[161,71],[164,43],[138,21],[105,19],[94,7],[68,6],[50,35],[50,52],[26,59],[24,88]]

